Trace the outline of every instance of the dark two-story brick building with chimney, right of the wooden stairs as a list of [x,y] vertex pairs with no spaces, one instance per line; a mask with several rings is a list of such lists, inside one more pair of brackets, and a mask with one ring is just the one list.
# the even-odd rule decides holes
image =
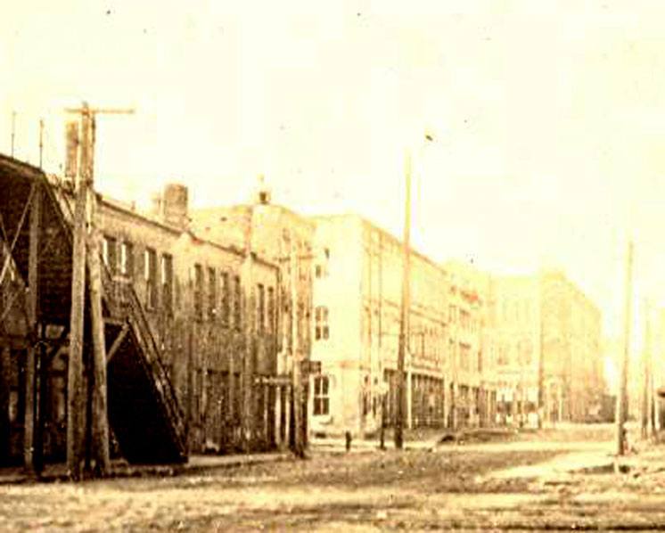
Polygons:
[[167,185],[150,215],[103,199],[99,219],[106,264],[144,302],[185,406],[190,449],[238,447],[243,417],[257,419],[257,441],[269,446],[273,422],[263,419],[268,410],[274,420],[275,390],[255,381],[277,372],[277,267],[249,261],[242,242],[197,233],[182,185]]

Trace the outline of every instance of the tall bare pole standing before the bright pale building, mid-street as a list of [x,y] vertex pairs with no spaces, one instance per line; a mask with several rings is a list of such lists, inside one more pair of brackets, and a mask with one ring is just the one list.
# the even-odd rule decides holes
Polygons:
[[404,447],[404,423],[406,415],[405,373],[406,343],[408,336],[408,309],[410,307],[410,240],[411,240],[411,154],[405,157],[404,236],[402,239],[402,300],[399,314],[397,420],[395,421],[395,447]]

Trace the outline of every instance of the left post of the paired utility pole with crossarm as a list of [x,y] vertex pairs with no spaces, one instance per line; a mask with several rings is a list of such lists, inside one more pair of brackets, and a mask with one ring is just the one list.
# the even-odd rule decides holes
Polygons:
[[[85,106],[87,108],[87,106]],[[86,110],[85,110],[86,111]],[[70,355],[67,376],[67,467],[72,480],[80,480],[85,461],[86,387],[83,335],[86,295],[86,210],[89,112],[82,113],[81,164],[78,168],[74,241],[72,245]]]

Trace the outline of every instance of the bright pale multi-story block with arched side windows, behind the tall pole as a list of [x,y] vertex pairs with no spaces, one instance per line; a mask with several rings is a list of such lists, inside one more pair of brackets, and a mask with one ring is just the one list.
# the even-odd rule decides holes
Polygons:
[[[315,217],[311,429],[371,433],[397,413],[402,245],[354,215]],[[411,251],[405,357],[409,427],[491,418],[483,364],[486,276]]]

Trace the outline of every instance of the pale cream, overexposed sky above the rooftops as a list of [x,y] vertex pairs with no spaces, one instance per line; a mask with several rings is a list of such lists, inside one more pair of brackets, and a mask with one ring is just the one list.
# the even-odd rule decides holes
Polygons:
[[[621,332],[628,236],[634,330],[665,305],[665,4],[27,0],[0,19],[0,152],[63,160],[63,109],[100,117],[96,186],[194,207],[249,198],[403,225],[436,260],[560,267]],[[425,140],[425,134],[432,141]],[[11,193],[11,192],[5,192]]]

